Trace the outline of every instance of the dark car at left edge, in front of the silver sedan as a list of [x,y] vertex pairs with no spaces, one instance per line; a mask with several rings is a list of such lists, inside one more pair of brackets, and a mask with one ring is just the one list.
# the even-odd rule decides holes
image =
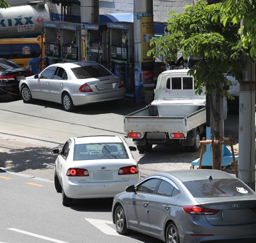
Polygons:
[[13,61],[0,58],[0,94],[19,95],[19,81],[32,75]]

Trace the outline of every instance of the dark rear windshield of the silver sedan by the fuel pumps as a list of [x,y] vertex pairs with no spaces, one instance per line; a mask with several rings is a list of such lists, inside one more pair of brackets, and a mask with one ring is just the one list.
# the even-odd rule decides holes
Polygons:
[[93,65],[93,66],[84,66],[84,67],[75,67],[71,69],[74,75],[78,79],[83,78],[100,78],[105,76],[110,76],[112,73],[105,69],[103,66],[100,65]]

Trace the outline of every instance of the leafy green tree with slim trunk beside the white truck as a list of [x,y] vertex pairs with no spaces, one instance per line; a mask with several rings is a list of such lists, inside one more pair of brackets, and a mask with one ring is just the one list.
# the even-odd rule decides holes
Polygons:
[[[231,84],[223,73],[229,71],[241,80],[244,60],[240,57],[246,51],[238,35],[240,25],[226,20],[224,26],[220,9],[221,3],[208,5],[199,0],[195,6],[186,6],[181,14],[171,11],[167,26],[169,35],[152,38],[151,45],[154,47],[148,52],[155,57],[163,55],[169,63],[176,62],[178,52],[183,52],[185,60],[189,56],[199,58],[189,74],[194,76],[196,93],[203,93],[205,87],[213,117],[211,135],[216,140],[220,139],[220,98],[233,98],[224,88]],[[219,146],[214,151],[214,166],[220,169]]]

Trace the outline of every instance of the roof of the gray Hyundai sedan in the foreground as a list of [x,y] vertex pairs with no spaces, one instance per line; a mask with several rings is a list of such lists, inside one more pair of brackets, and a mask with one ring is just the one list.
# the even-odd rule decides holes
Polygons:
[[228,174],[221,170],[211,170],[211,169],[197,169],[197,170],[170,170],[168,172],[155,173],[159,176],[166,176],[172,179],[176,177],[182,182],[187,182],[189,180],[204,180],[209,179],[211,176],[213,179],[220,178],[234,178],[233,174]]

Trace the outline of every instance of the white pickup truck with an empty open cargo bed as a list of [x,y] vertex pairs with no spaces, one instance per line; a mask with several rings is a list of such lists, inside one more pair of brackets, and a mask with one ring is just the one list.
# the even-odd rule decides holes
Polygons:
[[192,151],[199,149],[206,124],[206,97],[195,93],[194,78],[187,71],[163,71],[151,104],[124,116],[124,131],[139,152],[174,142]]

